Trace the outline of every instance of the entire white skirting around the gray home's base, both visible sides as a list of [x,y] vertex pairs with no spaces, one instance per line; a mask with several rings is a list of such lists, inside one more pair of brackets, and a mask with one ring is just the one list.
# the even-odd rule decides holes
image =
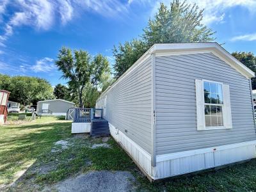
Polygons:
[[156,156],[156,167],[151,164],[151,156],[123,132],[109,124],[111,136],[122,145],[134,161],[154,180],[198,172],[236,163],[256,157],[256,141],[222,145],[218,147],[189,150]]

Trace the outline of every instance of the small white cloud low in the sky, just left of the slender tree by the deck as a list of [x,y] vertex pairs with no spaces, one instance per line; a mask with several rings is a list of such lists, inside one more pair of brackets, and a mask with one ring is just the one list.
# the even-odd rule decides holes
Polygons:
[[[24,67],[22,66],[22,68]],[[53,59],[43,58],[42,60],[36,61],[36,64],[31,67],[31,70],[34,72],[51,72],[52,70],[56,70],[56,66],[54,65]]]

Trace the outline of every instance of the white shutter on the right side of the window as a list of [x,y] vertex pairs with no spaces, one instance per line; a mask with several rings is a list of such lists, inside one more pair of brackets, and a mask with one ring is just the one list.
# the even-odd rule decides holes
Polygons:
[[227,129],[232,129],[230,93],[228,84],[223,84],[223,104],[223,125]]

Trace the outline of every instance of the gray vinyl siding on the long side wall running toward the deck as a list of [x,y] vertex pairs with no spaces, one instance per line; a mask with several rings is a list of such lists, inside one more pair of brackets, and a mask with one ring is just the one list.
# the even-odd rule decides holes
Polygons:
[[117,82],[102,95],[102,100],[105,95],[107,102],[104,118],[151,154],[151,59],[148,58]]

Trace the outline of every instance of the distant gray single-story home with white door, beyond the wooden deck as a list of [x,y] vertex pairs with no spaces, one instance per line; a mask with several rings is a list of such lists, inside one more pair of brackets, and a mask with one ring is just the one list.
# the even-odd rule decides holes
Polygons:
[[74,108],[75,103],[63,99],[40,100],[37,102],[36,113],[42,116],[66,115],[69,108]]

